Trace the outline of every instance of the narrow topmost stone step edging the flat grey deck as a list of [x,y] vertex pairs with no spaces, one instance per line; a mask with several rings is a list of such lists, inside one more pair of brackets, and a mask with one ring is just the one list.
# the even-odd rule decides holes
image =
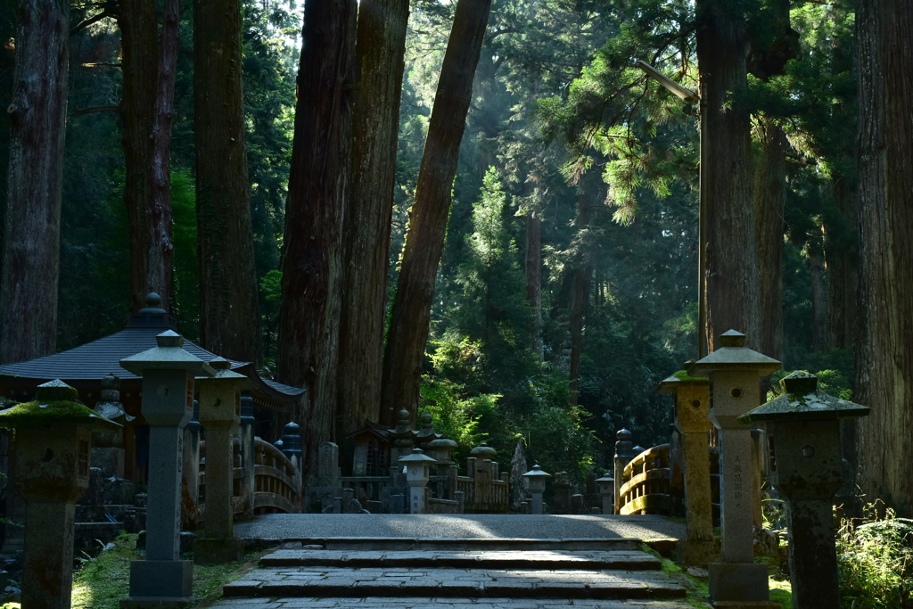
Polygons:
[[602,550],[635,551],[641,541],[625,537],[581,539],[523,539],[523,538],[404,538],[404,537],[307,537],[273,540],[276,543],[320,546],[325,550],[364,551],[477,551],[477,550]]

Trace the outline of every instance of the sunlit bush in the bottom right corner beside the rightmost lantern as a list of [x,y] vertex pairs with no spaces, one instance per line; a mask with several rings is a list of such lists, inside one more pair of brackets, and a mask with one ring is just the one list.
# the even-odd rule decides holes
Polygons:
[[866,505],[862,524],[843,520],[837,534],[841,605],[913,607],[913,520],[898,519],[877,503]]

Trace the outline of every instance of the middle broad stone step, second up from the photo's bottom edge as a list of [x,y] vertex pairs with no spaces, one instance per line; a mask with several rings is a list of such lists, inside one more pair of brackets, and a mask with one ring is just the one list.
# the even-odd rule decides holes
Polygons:
[[656,600],[685,596],[663,572],[574,569],[261,567],[225,597],[433,597]]

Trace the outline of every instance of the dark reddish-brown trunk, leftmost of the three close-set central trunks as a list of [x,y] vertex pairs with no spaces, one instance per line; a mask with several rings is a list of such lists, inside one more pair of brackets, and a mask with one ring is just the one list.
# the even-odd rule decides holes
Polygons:
[[356,11],[354,0],[308,0],[304,6],[277,378],[309,392],[307,412],[295,414],[306,479],[316,474],[320,444],[334,439]]

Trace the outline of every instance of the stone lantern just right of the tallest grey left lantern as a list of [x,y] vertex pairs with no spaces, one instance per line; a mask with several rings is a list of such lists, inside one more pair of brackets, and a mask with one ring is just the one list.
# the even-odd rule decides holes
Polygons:
[[231,362],[209,362],[215,376],[197,380],[200,424],[206,434],[205,537],[194,541],[194,562],[220,564],[244,558],[244,540],[235,539],[235,467],[232,463],[233,431],[241,422],[241,392],[253,383],[231,371]]

